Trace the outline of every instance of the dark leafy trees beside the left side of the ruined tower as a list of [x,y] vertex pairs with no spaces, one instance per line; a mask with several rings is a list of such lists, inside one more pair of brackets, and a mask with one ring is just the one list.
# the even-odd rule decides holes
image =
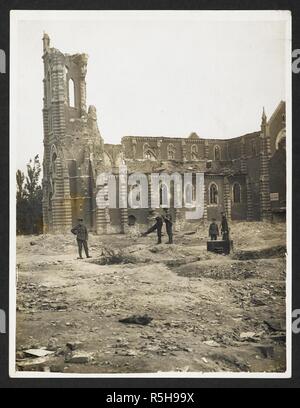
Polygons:
[[17,233],[38,234],[42,232],[43,192],[40,183],[41,165],[39,156],[27,164],[27,176],[17,171]]

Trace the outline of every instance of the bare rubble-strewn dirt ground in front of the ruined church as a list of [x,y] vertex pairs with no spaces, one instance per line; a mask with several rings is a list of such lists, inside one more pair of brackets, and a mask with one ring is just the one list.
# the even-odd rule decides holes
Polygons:
[[[206,231],[90,235],[84,260],[71,234],[18,237],[17,369],[284,372],[285,225],[233,223],[230,256],[207,252]],[[153,320],[119,322],[132,315]]]

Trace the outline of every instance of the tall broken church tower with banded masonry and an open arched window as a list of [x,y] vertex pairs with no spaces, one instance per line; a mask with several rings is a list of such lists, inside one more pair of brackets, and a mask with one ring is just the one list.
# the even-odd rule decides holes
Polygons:
[[96,109],[87,109],[86,54],[63,54],[43,37],[44,232],[69,232],[78,217],[94,229],[96,177],[103,140]]

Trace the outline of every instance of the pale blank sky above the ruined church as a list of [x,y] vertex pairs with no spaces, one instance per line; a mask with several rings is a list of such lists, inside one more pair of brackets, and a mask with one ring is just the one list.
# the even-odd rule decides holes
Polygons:
[[17,16],[11,120],[21,169],[43,156],[43,31],[52,47],[89,54],[87,103],[106,143],[191,132],[232,138],[258,130],[263,106],[270,116],[286,99],[286,13],[231,13],[226,21],[196,12]]

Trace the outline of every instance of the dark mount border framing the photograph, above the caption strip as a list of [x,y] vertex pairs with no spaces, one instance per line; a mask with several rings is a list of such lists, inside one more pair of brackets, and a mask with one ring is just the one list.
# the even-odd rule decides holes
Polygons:
[[[293,16],[293,49],[300,49],[299,0],[186,0],[186,1],[96,1],[96,0],[0,0],[0,49],[6,52],[7,73],[0,74],[0,309],[9,313],[9,13],[10,10],[105,10],[105,9],[175,9],[175,10],[291,10]],[[30,101],[28,101],[30,103]],[[300,74],[293,74],[293,309],[300,309],[300,272],[297,268],[300,204]],[[12,152],[14,154],[14,152]],[[14,173],[11,177],[15,177]],[[9,322],[7,321],[7,329]],[[244,379],[10,379],[8,376],[8,334],[0,334],[0,388],[300,388],[300,334],[293,336],[293,378],[291,380]],[[112,389],[113,388],[113,389]],[[104,390],[103,390],[104,391]],[[139,393],[142,390],[136,390]],[[150,390],[149,390],[150,391]],[[127,390],[127,393],[130,390]],[[131,390],[134,392],[134,390]],[[103,394],[102,402],[105,402]],[[199,399],[196,398],[199,402]],[[99,398],[101,402],[101,398]],[[142,405],[142,404],[140,404]],[[193,404],[191,404],[193,405]]]

